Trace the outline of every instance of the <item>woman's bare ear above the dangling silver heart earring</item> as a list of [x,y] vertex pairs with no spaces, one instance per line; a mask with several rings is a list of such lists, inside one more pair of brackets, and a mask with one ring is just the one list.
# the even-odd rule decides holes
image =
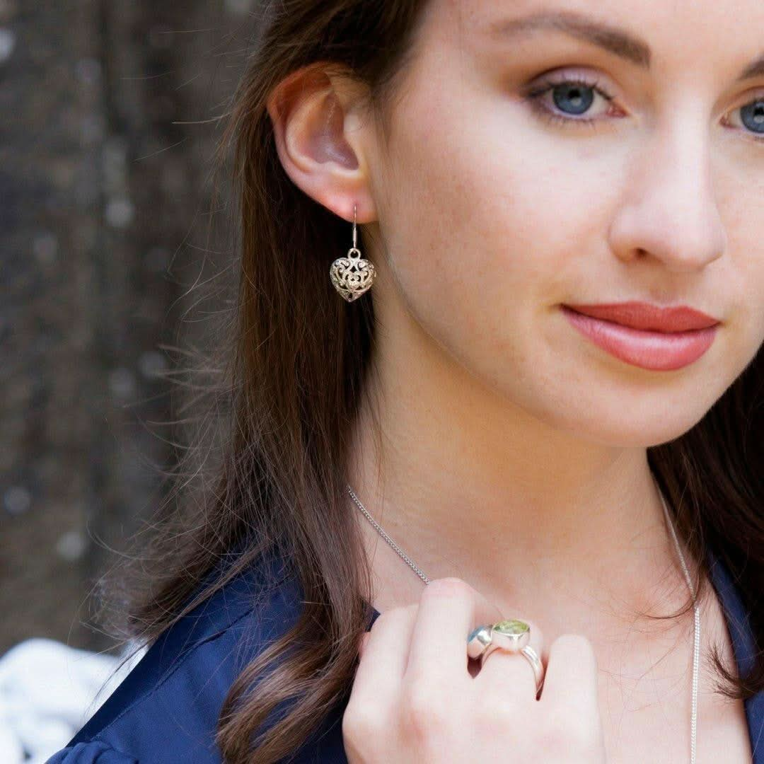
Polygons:
[[267,110],[279,158],[296,186],[348,222],[377,219],[361,127],[363,89],[349,77],[309,66],[270,93]]

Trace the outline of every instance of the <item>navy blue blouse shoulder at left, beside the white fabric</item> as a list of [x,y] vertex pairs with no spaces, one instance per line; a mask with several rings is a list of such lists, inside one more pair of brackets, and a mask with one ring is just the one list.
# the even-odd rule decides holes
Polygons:
[[215,729],[228,690],[301,604],[279,558],[240,573],[160,635],[47,764],[220,762]]

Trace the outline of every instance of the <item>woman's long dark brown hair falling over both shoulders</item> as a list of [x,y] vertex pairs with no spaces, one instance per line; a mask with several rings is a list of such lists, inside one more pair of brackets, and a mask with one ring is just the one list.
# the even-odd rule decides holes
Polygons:
[[[209,393],[201,400],[209,405],[151,523],[151,542],[134,555],[134,565],[102,585],[102,612],[126,613],[119,633],[150,645],[233,575],[271,550],[288,550],[304,607],[290,632],[231,687],[217,736],[226,761],[267,764],[288,756],[342,701],[371,602],[371,575],[345,486],[351,422],[374,358],[374,290],[354,303],[333,290],[329,264],[347,248],[348,224],[290,181],[265,105],[286,76],[331,65],[367,86],[369,107],[384,125],[425,5],[259,5],[254,52],[223,142],[232,149],[227,167],[232,162],[241,261],[238,294],[199,369]],[[759,644],[762,412],[759,351],[701,422],[648,449],[678,533],[698,561],[699,596],[711,545],[736,578]],[[222,560],[229,564],[219,568]],[[200,588],[205,578],[209,585]],[[689,608],[691,601],[669,617]],[[113,615],[110,623],[116,625]],[[743,677],[728,671],[716,650],[714,664],[723,680],[717,687],[730,698],[764,688],[761,652]],[[288,713],[263,731],[284,701]]]

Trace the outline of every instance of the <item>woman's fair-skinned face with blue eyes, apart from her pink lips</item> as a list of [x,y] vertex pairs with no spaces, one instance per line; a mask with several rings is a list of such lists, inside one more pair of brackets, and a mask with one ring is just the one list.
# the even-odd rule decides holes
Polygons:
[[[380,319],[594,441],[685,432],[764,340],[762,53],[761,0],[432,0],[367,157]],[[627,300],[720,324],[647,368],[561,307]]]

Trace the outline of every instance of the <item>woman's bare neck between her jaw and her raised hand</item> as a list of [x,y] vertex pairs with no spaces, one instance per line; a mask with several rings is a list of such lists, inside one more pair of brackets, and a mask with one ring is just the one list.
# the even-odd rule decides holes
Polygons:
[[[351,487],[430,580],[464,578],[537,622],[545,608],[562,618],[561,601],[581,605],[582,592],[596,599],[581,605],[589,623],[613,604],[631,622],[635,608],[665,610],[668,591],[672,607],[685,600],[646,448],[552,426],[428,342],[415,354],[377,349]],[[380,601],[416,601],[422,581],[358,518]]]

